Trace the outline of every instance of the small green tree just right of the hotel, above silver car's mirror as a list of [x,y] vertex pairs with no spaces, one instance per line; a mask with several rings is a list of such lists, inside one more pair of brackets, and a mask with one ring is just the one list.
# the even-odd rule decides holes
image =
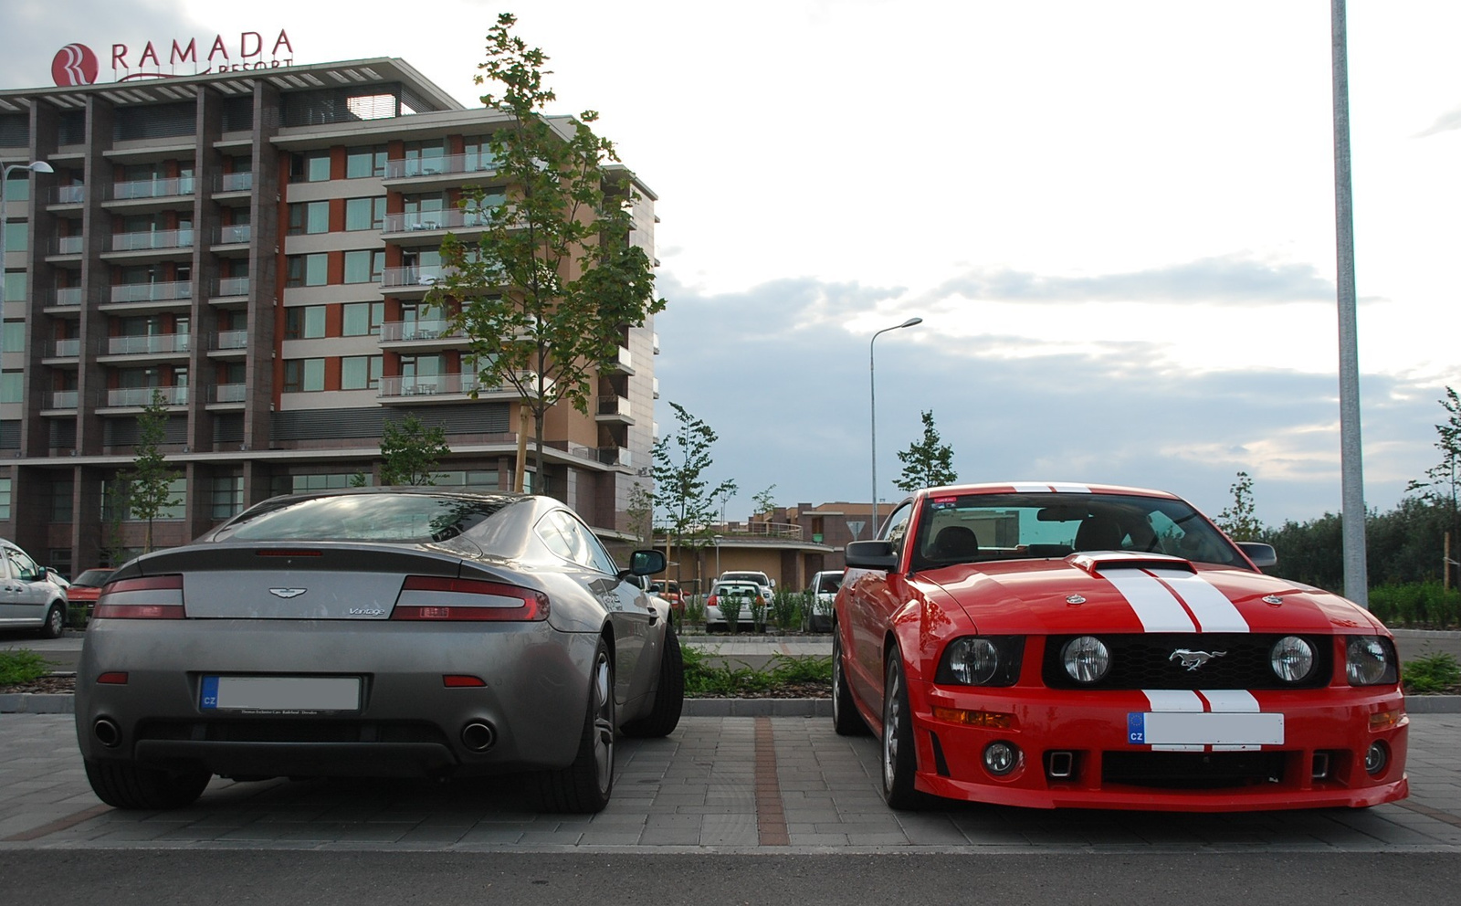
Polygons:
[[[655,444],[655,487],[659,509],[665,513],[669,538],[681,549],[700,549],[714,538],[716,500],[733,488],[733,481],[710,487],[706,472],[713,465],[710,447],[714,430],[691,415],[679,403],[669,403],[678,428]],[[695,558],[695,579],[700,579],[700,558]]]

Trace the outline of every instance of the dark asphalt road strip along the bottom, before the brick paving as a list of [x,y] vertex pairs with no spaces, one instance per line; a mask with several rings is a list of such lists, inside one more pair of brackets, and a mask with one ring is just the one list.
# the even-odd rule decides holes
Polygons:
[[1446,903],[1455,853],[7,852],[12,903]]

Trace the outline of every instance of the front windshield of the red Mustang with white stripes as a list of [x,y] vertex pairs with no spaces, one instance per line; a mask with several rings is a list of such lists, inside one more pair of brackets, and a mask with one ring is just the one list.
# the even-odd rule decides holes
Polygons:
[[1186,503],[1125,494],[929,497],[913,545],[915,568],[1090,551],[1248,566],[1232,542]]

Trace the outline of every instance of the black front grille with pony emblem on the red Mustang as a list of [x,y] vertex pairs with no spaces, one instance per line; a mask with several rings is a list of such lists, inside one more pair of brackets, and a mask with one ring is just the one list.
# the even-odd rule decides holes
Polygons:
[[[1077,636],[1050,636],[1045,642],[1042,675],[1050,688],[1319,688],[1334,675],[1334,643],[1328,636],[1303,636],[1313,649],[1313,669],[1300,682],[1283,682],[1270,665],[1280,634],[1252,633],[1151,633],[1097,636],[1110,650],[1110,672],[1100,682],[1077,682],[1065,672],[1061,652]],[[1186,669],[1178,650],[1214,655],[1197,669]],[[1217,656],[1217,652],[1223,652]]]

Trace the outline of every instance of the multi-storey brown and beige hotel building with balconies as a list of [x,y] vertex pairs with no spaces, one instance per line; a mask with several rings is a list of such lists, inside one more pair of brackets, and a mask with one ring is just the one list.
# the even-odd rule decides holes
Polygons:
[[[504,123],[394,58],[0,92],[0,162],[54,171],[6,184],[0,535],[63,571],[136,552],[146,526],[110,490],[155,395],[180,473],[155,547],[373,482],[408,414],[447,431],[438,484],[511,488],[519,400],[427,304],[443,237],[481,235],[459,202],[507,191]],[[653,260],[655,194],[633,186]],[[608,539],[649,484],[656,352],[652,320],[625,327],[596,405],[549,414],[526,476]]]

